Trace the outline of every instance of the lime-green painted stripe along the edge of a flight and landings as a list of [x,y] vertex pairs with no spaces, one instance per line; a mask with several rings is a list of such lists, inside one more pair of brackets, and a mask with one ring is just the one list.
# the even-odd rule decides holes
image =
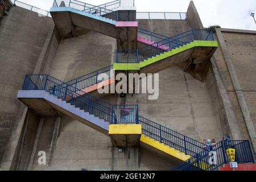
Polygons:
[[218,43],[216,41],[195,40],[195,41],[193,41],[189,44],[186,44],[184,46],[180,46],[180,47],[177,47],[170,51],[161,53],[160,55],[151,57],[148,60],[141,61],[140,63],[114,63],[114,69],[116,71],[118,71],[118,70],[140,70],[141,68],[146,67],[147,65],[150,65],[157,61],[174,56],[177,53],[187,51],[188,49],[191,49],[194,47],[218,47]]

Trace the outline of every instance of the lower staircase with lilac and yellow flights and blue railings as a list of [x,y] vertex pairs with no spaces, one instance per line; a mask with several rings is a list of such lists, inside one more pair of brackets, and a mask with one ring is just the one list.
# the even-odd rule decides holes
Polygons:
[[[82,93],[81,90],[80,93]],[[203,143],[140,116],[138,105],[113,105],[89,93],[80,93],[75,87],[51,76],[27,75],[23,90],[19,90],[17,97],[40,115],[54,115],[55,110],[59,110],[109,135],[113,139],[113,144],[117,146],[120,144],[120,139],[118,140],[120,137],[114,138],[113,136],[128,135],[130,138],[126,137],[128,139],[126,142],[132,146],[138,143],[147,145],[184,161],[180,164],[181,167],[174,169],[188,169],[188,165],[190,165],[189,169],[216,168],[208,162],[209,148]],[[130,133],[129,130],[133,132]],[[122,131],[125,132],[122,133]],[[122,142],[123,138],[121,145]],[[239,161],[253,162],[249,142],[243,140],[241,143],[245,144],[242,147],[240,143],[231,146],[237,146],[236,149],[241,158]],[[220,151],[222,151],[222,156],[225,156],[223,144],[221,147],[219,150],[220,144],[217,144],[213,150],[218,152],[218,156],[221,156]],[[225,159],[224,162],[228,160]]]

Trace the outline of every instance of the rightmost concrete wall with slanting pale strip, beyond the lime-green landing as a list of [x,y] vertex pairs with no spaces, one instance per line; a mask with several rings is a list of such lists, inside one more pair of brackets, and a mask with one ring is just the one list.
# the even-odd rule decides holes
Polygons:
[[255,97],[255,31],[216,28],[222,55],[217,60],[221,77],[235,110],[240,132],[250,138],[256,151],[256,130],[253,98]]

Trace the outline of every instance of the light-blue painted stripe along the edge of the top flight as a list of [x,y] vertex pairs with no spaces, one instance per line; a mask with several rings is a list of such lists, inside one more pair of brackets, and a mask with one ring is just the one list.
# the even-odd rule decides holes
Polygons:
[[79,11],[79,10],[73,9],[72,7],[51,7],[49,12],[52,13],[52,12],[61,12],[61,11],[69,11],[72,13],[80,14],[83,16],[87,16],[89,18],[100,20],[102,22],[113,24],[115,26],[115,20],[106,19],[101,16],[93,15],[91,13],[85,13],[84,11]]

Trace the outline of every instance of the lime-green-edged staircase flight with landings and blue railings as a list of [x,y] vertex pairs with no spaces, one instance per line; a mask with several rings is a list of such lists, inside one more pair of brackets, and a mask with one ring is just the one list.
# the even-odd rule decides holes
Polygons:
[[[140,30],[139,34],[141,34]],[[152,37],[161,39],[155,36],[150,38]],[[186,71],[191,64],[207,63],[217,47],[212,31],[191,30],[141,49],[118,49],[114,69],[155,73],[183,63],[182,67]]]

